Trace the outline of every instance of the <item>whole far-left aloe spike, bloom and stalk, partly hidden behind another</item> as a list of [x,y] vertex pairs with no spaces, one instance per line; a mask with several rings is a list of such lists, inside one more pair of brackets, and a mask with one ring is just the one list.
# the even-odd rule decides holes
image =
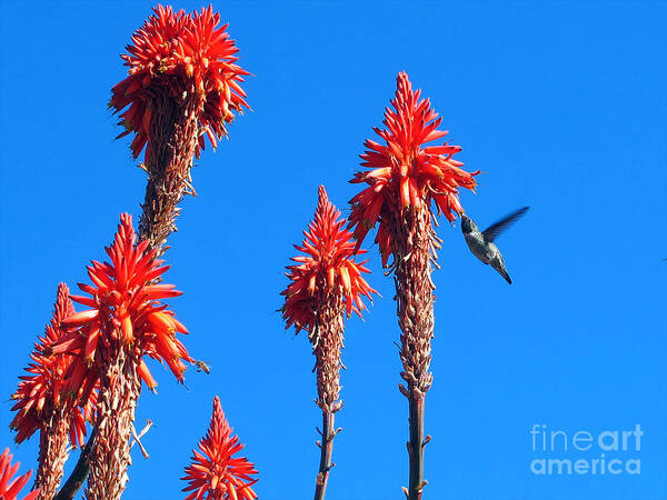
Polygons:
[[86,413],[96,403],[92,388],[80,399],[79,406],[63,391],[69,383],[72,357],[69,354],[46,356],[50,344],[61,340],[67,333],[60,323],[74,313],[69,299],[67,284],[58,286],[53,317],[47,324],[44,336],[39,338],[30,358],[28,376],[21,377],[18,390],[12,394],[12,410],[18,411],[11,428],[17,431],[17,442],[30,438],[40,431],[39,468],[34,481],[40,490],[40,499],[50,499],[56,493],[64,462],[68,458],[68,444],[81,446],[86,434]]

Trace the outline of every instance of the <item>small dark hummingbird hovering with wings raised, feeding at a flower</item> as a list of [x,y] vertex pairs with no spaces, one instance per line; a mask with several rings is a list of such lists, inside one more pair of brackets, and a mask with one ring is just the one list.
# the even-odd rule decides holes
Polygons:
[[472,219],[465,213],[461,216],[461,231],[464,232],[464,238],[466,238],[466,243],[468,243],[470,251],[484,263],[491,264],[491,268],[498,271],[509,284],[511,284],[511,279],[505,269],[502,253],[500,253],[500,250],[498,250],[498,247],[496,247],[494,241],[502,231],[526,213],[529,208],[530,207],[524,207],[511,212],[481,232],[479,232],[479,229]]

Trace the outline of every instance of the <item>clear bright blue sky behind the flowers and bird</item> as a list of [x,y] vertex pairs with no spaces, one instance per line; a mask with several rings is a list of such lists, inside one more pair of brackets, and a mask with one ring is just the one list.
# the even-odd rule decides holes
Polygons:
[[[9,394],[49,320],[56,286],[87,281],[118,214],[138,217],[145,174],[115,141],[107,110],[119,53],[149,2],[4,2],[0,148],[0,448],[17,447]],[[197,2],[177,8],[192,10]],[[435,383],[427,396],[425,499],[667,498],[667,8],[663,2],[218,2],[238,40],[253,112],[193,171],[168,252],[171,303],[187,346],[212,367],[189,390],[153,366],[138,426],[156,426],[130,469],[128,499],[182,498],[179,480],[206,432],[212,397],[261,471],[263,499],[312,494],[320,414],[305,336],[279,313],[292,243],[317,186],[345,208],[364,139],[398,71],[444,117],[458,158],[482,170],[461,202],[480,226],[530,204],[498,240],[508,286],[439,234]],[[377,247],[382,298],[346,329],[337,467],[329,499],[401,498],[407,401],[398,392],[394,284]],[[645,433],[640,474],[536,476],[530,429]],[[539,442],[539,441],[538,441]],[[137,450],[138,451],[138,450]]]

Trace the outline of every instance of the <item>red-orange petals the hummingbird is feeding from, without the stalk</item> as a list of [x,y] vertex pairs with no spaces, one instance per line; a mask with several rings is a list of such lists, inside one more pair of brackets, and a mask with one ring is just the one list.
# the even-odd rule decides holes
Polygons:
[[389,220],[397,219],[407,207],[430,210],[432,200],[438,213],[452,221],[455,213],[464,213],[458,200],[459,187],[475,190],[474,176],[479,173],[462,170],[464,163],[452,158],[461,150],[459,146],[445,142],[422,147],[448,133],[438,130],[442,119],[438,118],[428,99],[420,99],[420,90],[412,91],[405,72],[398,74],[397,87],[391,100],[394,109],[385,111],[387,128],[374,128],[386,144],[366,140],[367,151],[361,154],[361,166],[371,170],[357,172],[350,181],[369,186],[350,200],[350,227],[355,230],[357,246],[379,220],[376,242],[385,264],[392,251]]

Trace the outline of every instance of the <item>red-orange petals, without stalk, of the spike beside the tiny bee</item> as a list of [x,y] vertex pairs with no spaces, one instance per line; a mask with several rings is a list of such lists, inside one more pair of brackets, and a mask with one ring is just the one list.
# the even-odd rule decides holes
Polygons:
[[[67,390],[86,398],[99,379],[119,344],[131,346],[135,352],[163,361],[182,382],[186,364],[193,362],[176,332],[188,333],[161,299],[178,297],[173,284],[153,284],[169,266],[147,250],[148,241],[136,244],[132,218],[120,216],[113,244],[107,247],[111,262],[88,267],[92,286],[79,283],[91,297],[71,296],[74,302],[91,309],[70,316],[61,322],[68,332],[51,346],[53,354],[74,357],[70,366]],[[157,387],[143,359],[138,373],[149,389]]]

